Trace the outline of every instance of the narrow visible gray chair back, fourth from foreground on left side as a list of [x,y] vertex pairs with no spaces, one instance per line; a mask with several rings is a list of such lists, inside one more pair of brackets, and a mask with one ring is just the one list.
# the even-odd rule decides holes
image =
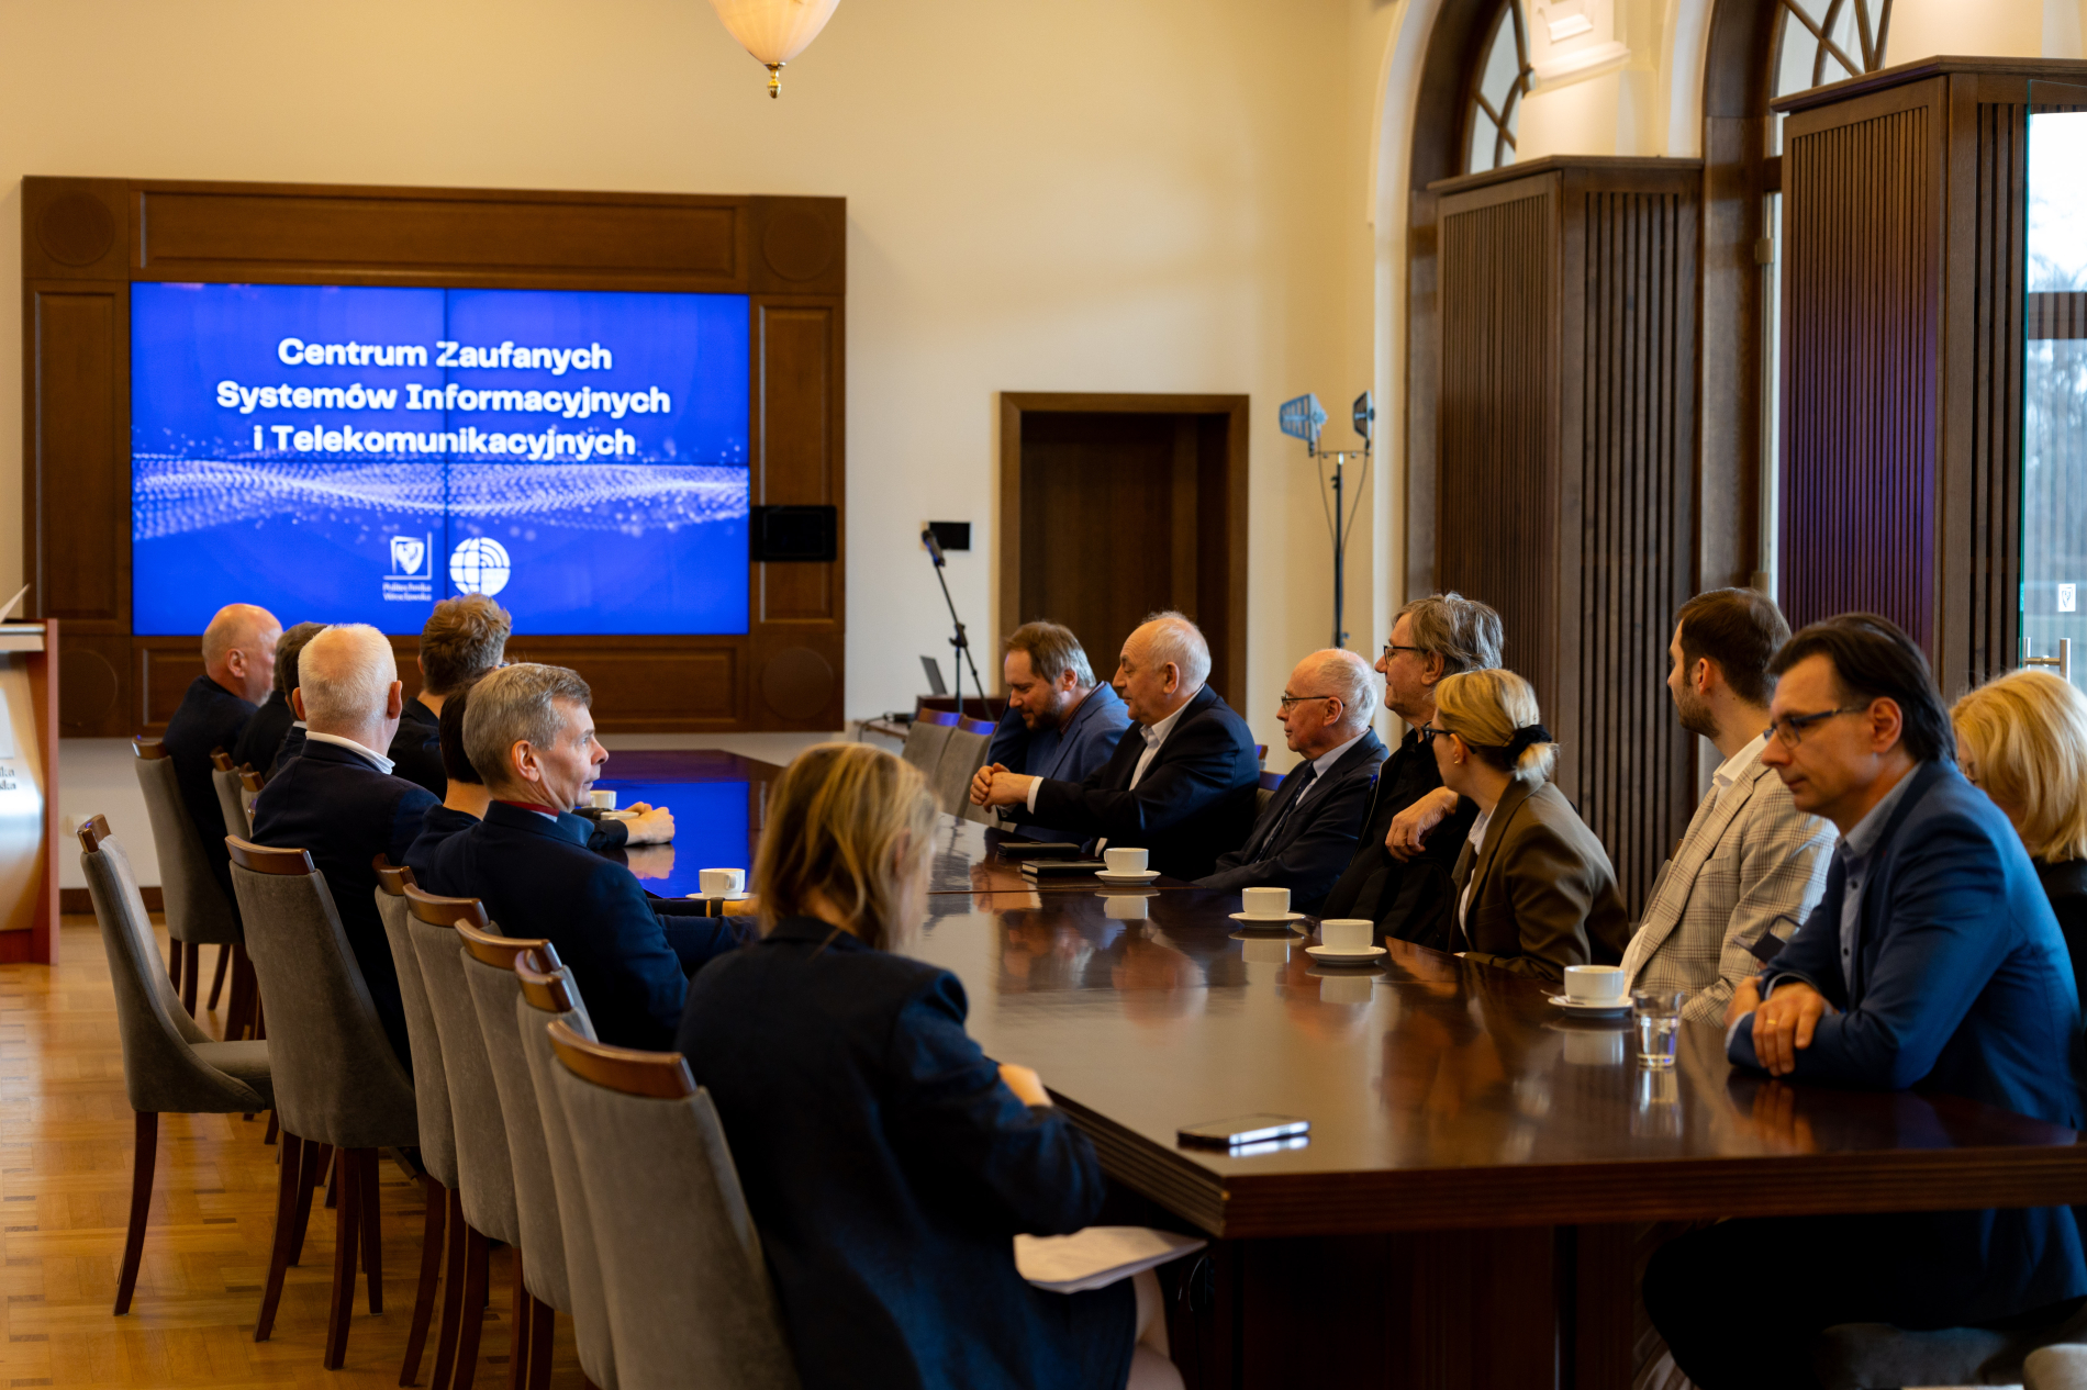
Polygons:
[[[478,1031],[478,1004],[463,979],[457,920],[486,925],[476,897],[436,897],[407,889],[407,933],[419,958],[419,979],[428,1010],[442,1041],[442,1079],[449,1083],[449,1117],[457,1140],[457,1196],[472,1229],[509,1246],[522,1244],[515,1221],[515,1177],[507,1158],[507,1121],[486,1056],[486,1035]],[[428,920],[434,918],[434,920]],[[528,1246],[524,1246],[528,1254]],[[524,1273],[528,1263],[522,1265]]]

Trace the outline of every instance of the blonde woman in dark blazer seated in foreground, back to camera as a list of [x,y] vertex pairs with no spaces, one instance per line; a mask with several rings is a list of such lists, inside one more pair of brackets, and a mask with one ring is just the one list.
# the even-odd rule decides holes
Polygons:
[[927,781],[891,753],[797,758],[753,866],[766,935],[691,981],[676,1037],[730,1140],[797,1375],[1179,1386],[1150,1273],[1066,1296],[1014,1269],[1014,1236],[1092,1223],[1104,1179],[1035,1073],[964,1033],[956,977],[887,950],[927,916],[933,824]]

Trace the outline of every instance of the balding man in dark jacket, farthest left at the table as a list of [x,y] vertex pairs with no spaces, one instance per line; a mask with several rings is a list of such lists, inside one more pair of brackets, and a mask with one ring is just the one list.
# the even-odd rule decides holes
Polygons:
[[227,603],[202,628],[202,674],[190,680],[182,708],[167,720],[167,756],[182,785],[182,804],[202,835],[202,854],[211,860],[225,900],[232,897],[232,856],[225,852],[225,812],[211,783],[211,749],[227,753],[238,745],[246,720],[267,699],[275,682],[275,641],[282,624],[275,614],[253,603]]

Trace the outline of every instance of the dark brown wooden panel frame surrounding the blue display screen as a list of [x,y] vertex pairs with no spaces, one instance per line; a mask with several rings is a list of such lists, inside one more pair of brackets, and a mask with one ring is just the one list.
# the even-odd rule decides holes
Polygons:
[[[140,280],[747,294],[751,501],[839,507],[839,555],[751,564],[745,637],[522,630],[509,651],[580,668],[605,730],[843,726],[843,198],[27,177],[21,209],[27,612],[65,620],[67,737],[159,730],[202,670],[194,637],[131,632]],[[394,645],[413,691],[415,639]]]

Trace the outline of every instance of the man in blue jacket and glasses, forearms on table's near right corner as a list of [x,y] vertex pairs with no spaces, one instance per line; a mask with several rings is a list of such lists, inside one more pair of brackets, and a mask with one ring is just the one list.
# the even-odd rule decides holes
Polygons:
[[[1956,770],[1926,657],[1891,622],[1847,614],[1791,637],[1770,672],[1761,760],[1841,843],[1826,897],[1732,1000],[1732,1062],[2079,1129],[2066,943],[2020,837]],[[1670,1242],[1645,1275],[1653,1323],[1705,1390],[1818,1386],[1809,1342],[1834,1323],[2033,1327],[2083,1294],[2064,1206],[1726,1221]]]

